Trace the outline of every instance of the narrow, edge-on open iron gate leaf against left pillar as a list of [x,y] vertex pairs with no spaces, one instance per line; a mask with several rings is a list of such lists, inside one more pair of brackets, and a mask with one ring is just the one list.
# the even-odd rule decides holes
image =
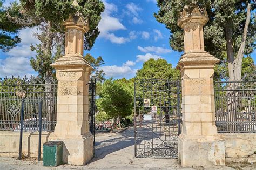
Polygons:
[[93,141],[95,143],[95,110],[96,110],[96,80],[91,79],[89,82],[89,128],[93,134]]

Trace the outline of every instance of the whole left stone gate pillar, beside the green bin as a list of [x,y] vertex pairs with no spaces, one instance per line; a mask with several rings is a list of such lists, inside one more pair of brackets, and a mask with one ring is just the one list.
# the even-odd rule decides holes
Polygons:
[[93,156],[93,135],[88,123],[88,83],[93,69],[83,57],[84,33],[89,30],[89,23],[76,13],[64,26],[65,55],[51,64],[56,69],[58,96],[57,124],[50,140],[63,141],[65,163],[84,165]]

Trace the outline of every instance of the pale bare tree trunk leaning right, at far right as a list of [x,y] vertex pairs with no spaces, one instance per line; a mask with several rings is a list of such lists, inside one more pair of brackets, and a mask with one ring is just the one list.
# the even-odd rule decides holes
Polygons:
[[246,36],[247,36],[248,27],[249,27],[249,24],[250,24],[250,18],[251,18],[251,5],[250,5],[250,3],[248,3],[245,27],[244,27],[244,32],[242,33],[242,42],[241,42],[241,45],[239,47],[237,57],[235,58],[235,61],[234,61],[234,64],[235,64],[234,65],[234,78],[237,81],[241,80],[242,58],[244,57]]

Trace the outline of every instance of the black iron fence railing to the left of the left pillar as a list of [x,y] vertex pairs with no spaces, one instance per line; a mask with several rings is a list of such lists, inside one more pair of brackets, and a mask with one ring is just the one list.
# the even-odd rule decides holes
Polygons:
[[21,103],[25,101],[24,131],[38,131],[38,103],[42,106],[42,131],[56,124],[57,80],[54,77],[0,78],[0,130],[19,130]]

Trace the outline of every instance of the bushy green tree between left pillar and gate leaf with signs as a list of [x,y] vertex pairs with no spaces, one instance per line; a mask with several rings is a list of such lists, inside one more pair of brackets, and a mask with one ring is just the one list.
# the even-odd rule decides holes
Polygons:
[[96,102],[100,111],[106,112],[111,118],[125,118],[132,114],[133,84],[123,79],[107,79],[102,84],[99,99]]

